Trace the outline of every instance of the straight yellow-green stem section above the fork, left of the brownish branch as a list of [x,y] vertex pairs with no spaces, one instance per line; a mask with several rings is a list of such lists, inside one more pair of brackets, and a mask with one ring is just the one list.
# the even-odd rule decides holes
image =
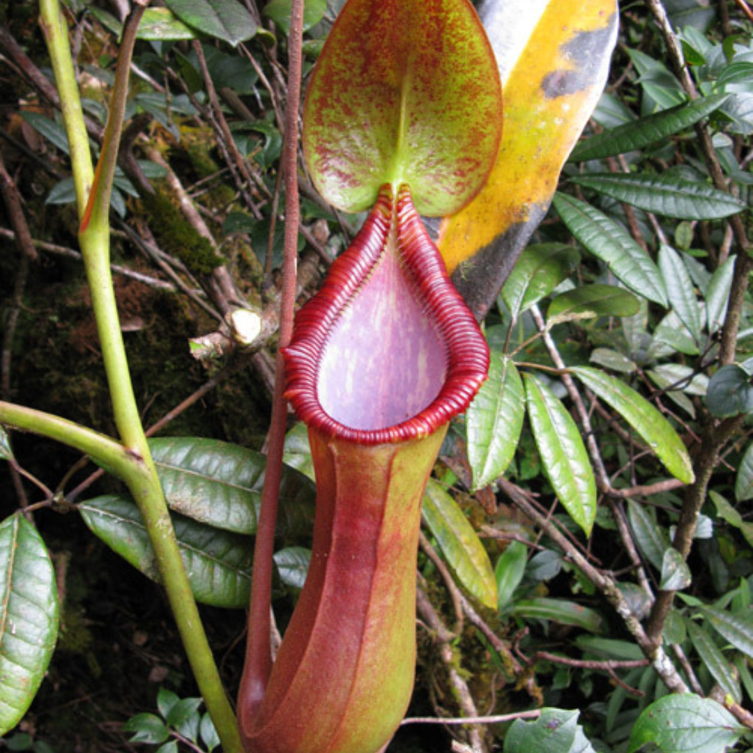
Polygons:
[[50,61],[60,96],[62,119],[68,134],[68,146],[74,166],[73,183],[76,190],[76,206],[78,206],[78,219],[81,221],[87,206],[94,169],[89,149],[89,136],[84,125],[84,110],[81,108],[81,96],[78,93],[78,81],[76,81],[71,46],[68,41],[68,25],[62,17],[58,0],[39,0],[39,11],[42,31],[47,41],[47,49],[50,50]]

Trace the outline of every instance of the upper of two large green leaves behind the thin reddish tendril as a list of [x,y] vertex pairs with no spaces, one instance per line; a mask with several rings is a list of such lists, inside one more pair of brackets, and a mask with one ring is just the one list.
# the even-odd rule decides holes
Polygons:
[[[256,532],[267,459],[236,444],[199,437],[149,441],[170,509],[199,523],[242,534]],[[278,535],[311,530],[316,489],[283,467]]]

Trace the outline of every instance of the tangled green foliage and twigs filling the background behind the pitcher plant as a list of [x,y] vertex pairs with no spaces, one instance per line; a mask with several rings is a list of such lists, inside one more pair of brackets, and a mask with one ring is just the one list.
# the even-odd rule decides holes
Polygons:
[[[205,437],[160,438],[153,449],[234,688],[274,349],[289,8],[166,6],[148,11],[136,49],[113,202],[117,293],[147,425]],[[95,144],[119,8],[69,4]],[[308,66],[337,10],[306,3]],[[111,432],[35,6],[0,14],[0,388]],[[753,745],[751,29],[742,0],[620,8],[607,90],[486,317],[492,371],[450,431],[419,554],[410,716],[495,716],[448,726],[461,745]],[[322,203],[305,175],[300,184],[303,300],[358,218]],[[243,300],[267,318],[253,352],[221,325]],[[2,437],[3,605],[59,602],[60,630],[44,682],[32,669],[40,694],[0,747],[211,750],[160,590],[105,547],[154,578],[133,504],[75,453],[11,438],[12,450]],[[293,422],[287,448],[281,629],[305,577],[313,499],[305,432]],[[33,508],[41,538],[14,515],[20,507]],[[26,562],[11,562],[14,550]],[[36,581],[15,577],[29,568]],[[0,630],[0,660],[18,660],[11,624]],[[447,732],[428,729],[405,725],[395,750],[449,747]]]

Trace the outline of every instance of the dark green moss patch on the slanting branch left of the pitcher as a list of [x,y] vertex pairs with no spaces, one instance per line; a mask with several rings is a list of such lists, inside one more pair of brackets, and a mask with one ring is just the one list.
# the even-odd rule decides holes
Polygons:
[[224,264],[212,243],[197,233],[181,215],[166,194],[156,194],[145,199],[144,208],[149,215],[149,224],[157,236],[163,251],[180,259],[194,275],[208,275],[215,267]]

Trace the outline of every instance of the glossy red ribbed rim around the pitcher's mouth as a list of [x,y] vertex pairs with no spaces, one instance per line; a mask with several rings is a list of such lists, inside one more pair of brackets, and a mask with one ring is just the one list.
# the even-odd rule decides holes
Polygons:
[[[428,319],[428,326],[436,332],[438,345],[444,348],[444,379],[436,380],[436,394],[427,393],[425,404],[407,419],[378,428],[358,428],[338,421],[323,407],[319,383],[322,362],[340,317],[370,277],[378,273],[393,239],[404,282],[423,309],[422,318]],[[410,347],[408,343],[407,349]],[[285,396],[300,419],[325,435],[361,444],[425,436],[468,407],[486,379],[489,349],[476,320],[450,282],[444,261],[413,207],[407,185],[400,187],[397,200],[393,200],[389,185],[382,187],[364,227],[334,262],[319,293],[298,313],[293,340],[285,349],[285,366]],[[389,364],[385,369],[389,370]]]

